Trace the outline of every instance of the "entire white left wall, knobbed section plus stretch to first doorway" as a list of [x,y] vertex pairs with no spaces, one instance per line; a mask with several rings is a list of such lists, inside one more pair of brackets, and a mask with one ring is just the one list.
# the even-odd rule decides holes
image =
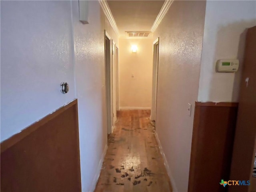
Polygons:
[[98,1],[89,1],[89,24],[79,21],[78,8],[78,1],[1,1],[1,141],[78,98],[87,192],[107,144],[104,29],[118,37]]

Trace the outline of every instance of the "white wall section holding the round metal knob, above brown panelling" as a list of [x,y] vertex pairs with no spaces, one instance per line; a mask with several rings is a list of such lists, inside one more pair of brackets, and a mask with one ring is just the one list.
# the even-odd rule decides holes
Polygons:
[[70,11],[69,1],[1,1],[1,141],[76,98]]

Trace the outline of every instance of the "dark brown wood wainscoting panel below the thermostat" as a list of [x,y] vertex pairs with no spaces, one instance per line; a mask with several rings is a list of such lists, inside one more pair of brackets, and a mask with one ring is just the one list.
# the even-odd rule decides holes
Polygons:
[[228,180],[238,103],[196,102],[189,192],[224,192]]

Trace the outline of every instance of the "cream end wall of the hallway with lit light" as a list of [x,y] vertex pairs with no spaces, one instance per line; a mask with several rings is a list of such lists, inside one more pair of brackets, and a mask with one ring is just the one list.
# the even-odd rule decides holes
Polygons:
[[[137,53],[132,45],[138,46]],[[120,39],[119,46],[120,108],[150,108],[153,39]]]

